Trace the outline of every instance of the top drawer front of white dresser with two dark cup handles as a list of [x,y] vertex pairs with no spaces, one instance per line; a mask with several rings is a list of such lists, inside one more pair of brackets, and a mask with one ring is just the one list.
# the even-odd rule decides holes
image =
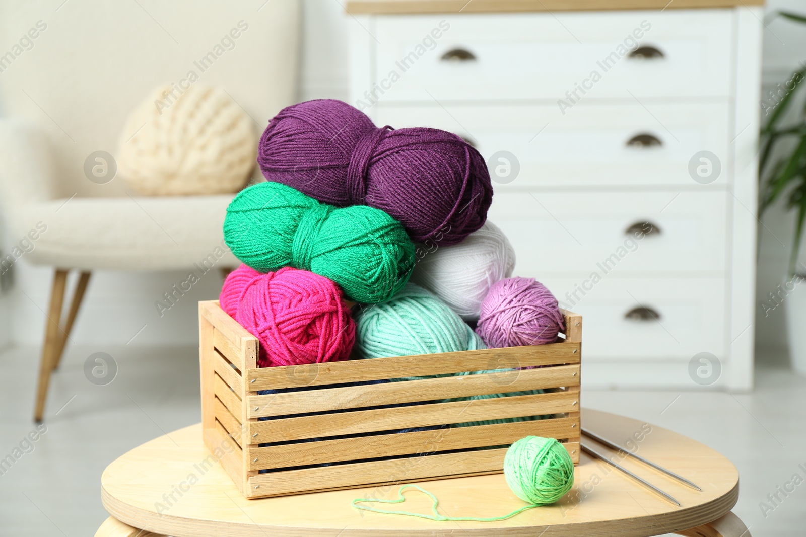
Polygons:
[[[383,93],[376,95],[569,104],[629,93],[724,97],[732,21],[731,10],[380,15],[373,68]],[[634,43],[646,56],[630,56]],[[650,48],[663,56],[649,57]]]

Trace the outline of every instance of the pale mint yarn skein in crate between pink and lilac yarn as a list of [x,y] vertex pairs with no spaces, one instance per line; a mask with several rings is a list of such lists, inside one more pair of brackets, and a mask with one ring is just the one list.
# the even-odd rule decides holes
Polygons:
[[381,358],[486,347],[447,304],[422,287],[407,283],[392,299],[364,308],[355,316],[353,349],[360,358]]

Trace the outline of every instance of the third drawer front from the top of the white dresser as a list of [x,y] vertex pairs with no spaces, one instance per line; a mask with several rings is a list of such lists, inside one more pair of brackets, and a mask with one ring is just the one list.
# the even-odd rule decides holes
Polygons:
[[[496,192],[517,275],[726,270],[727,192]],[[635,231],[649,229],[641,238]],[[630,230],[628,233],[628,229]],[[640,234],[640,233],[639,233]]]

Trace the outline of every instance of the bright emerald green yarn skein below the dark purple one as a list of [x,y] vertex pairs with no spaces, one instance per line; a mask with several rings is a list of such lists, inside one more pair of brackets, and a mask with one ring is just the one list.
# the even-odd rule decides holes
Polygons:
[[389,299],[414,266],[413,242],[388,214],[366,205],[336,209],[280,183],[255,184],[235,196],[224,240],[256,271],[311,271],[355,302]]

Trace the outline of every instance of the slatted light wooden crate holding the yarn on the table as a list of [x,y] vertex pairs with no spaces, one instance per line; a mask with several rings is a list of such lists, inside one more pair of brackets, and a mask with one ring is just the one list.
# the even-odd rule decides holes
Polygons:
[[[247,498],[501,472],[505,446],[529,435],[560,440],[579,463],[582,317],[563,313],[564,341],[550,345],[259,369],[256,337],[217,300],[200,302],[204,442]],[[485,370],[505,371],[333,386]],[[257,393],[284,388],[297,390]],[[420,404],[384,407],[401,403]],[[528,415],[552,417],[427,429]],[[409,428],[426,430],[399,432]]]

